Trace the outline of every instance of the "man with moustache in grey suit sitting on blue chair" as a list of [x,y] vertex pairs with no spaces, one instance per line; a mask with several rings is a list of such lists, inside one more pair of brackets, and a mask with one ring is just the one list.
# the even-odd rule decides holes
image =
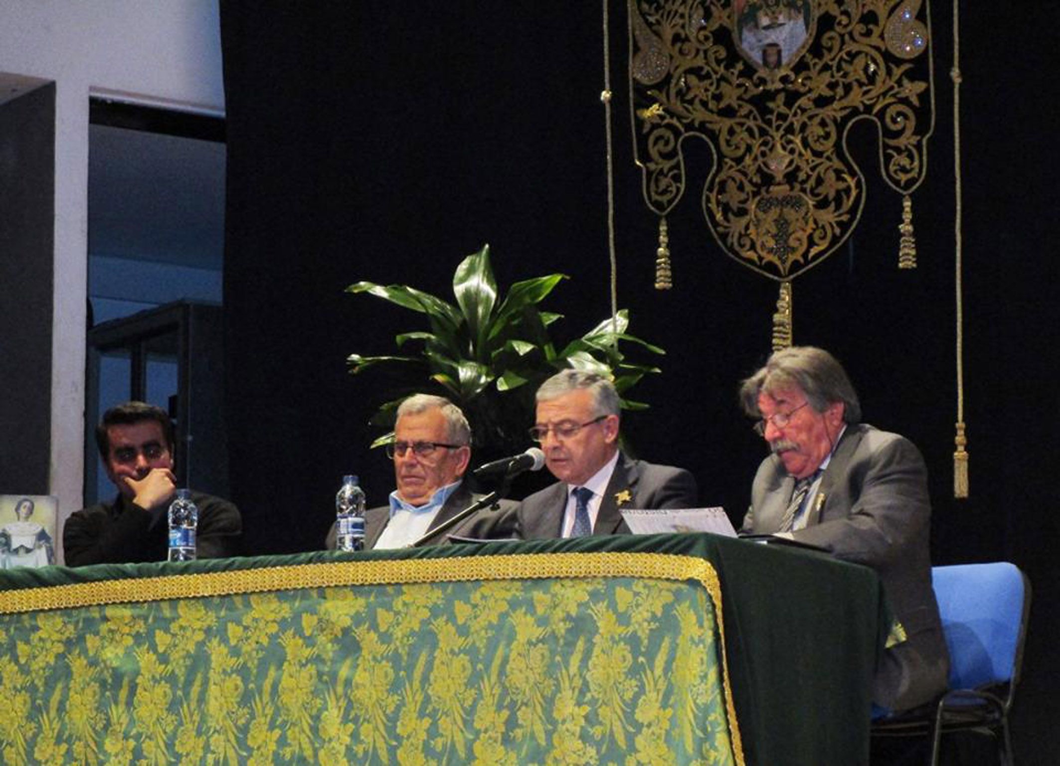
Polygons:
[[888,710],[931,700],[946,689],[949,658],[932,590],[919,450],[860,423],[853,386],[820,349],[776,352],[743,381],[740,399],[771,450],[741,532],[808,542],[874,569],[904,640],[885,652],[872,700]]

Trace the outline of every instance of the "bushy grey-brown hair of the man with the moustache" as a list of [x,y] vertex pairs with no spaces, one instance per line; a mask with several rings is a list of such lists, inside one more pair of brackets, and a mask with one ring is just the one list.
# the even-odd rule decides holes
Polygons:
[[843,404],[843,420],[846,423],[861,421],[858,392],[843,366],[824,349],[794,345],[774,352],[761,370],[740,384],[743,411],[752,417],[760,417],[759,395],[787,388],[798,388],[817,412],[824,412],[829,405],[838,402]]

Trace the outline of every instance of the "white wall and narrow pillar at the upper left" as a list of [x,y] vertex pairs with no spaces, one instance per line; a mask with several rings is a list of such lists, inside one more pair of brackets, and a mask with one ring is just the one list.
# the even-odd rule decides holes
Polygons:
[[0,72],[53,79],[55,299],[50,492],[82,505],[88,251],[88,99],[223,112],[217,0],[3,0]]

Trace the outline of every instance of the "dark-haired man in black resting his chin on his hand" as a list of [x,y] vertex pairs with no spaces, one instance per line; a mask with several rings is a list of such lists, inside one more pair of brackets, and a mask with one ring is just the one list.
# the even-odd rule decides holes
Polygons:
[[[169,507],[176,495],[169,414],[143,402],[111,407],[96,426],[95,444],[118,497],[75,511],[67,519],[63,527],[67,566],[164,562]],[[191,497],[198,506],[196,556],[235,555],[243,534],[238,509],[200,492]]]

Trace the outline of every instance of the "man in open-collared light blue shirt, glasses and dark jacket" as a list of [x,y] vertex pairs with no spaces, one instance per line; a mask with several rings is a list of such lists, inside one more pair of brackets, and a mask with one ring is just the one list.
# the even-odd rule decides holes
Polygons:
[[[471,427],[460,408],[442,396],[414,394],[398,407],[394,441],[387,457],[394,462],[396,488],[390,504],[365,512],[365,548],[405,548],[478,500],[463,483],[471,460]],[[485,539],[512,536],[515,503],[483,509],[429,538],[426,545],[450,542],[448,535]],[[325,545],[335,548],[335,525]]]

